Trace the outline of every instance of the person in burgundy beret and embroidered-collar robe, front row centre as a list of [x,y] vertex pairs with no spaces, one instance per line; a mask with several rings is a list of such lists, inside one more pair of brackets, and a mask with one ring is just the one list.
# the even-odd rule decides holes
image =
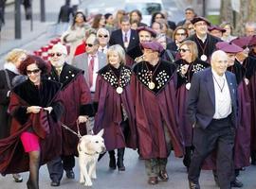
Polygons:
[[183,156],[183,144],[177,127],[174,73],[176,65],[160,60],[163,47],[157,42],[141,43],[144,60],[133,68],[132,90],[136,107],[139,155],[145,160],[148,183],[158,177],[169,180],[167,158]]

